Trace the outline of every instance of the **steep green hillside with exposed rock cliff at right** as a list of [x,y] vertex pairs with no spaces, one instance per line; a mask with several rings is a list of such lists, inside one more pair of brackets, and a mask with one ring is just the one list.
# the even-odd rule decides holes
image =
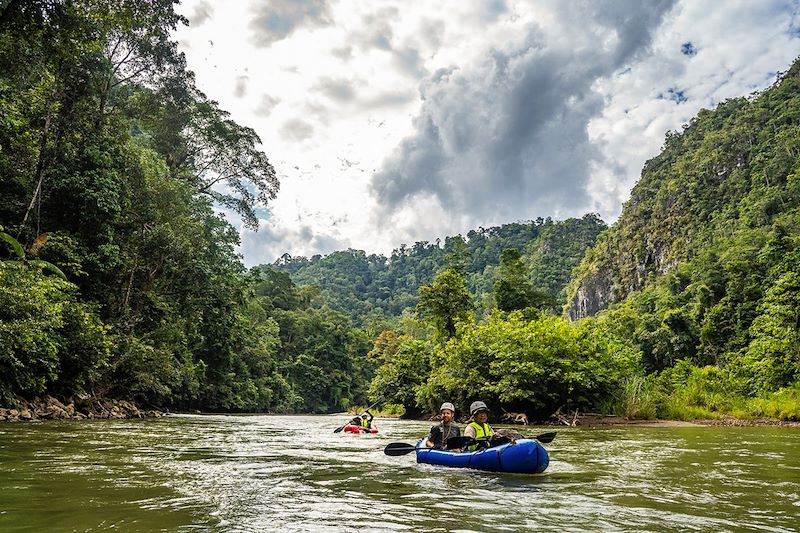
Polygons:
[[566,312],[600,312],[650,372],[712,365],[746,394],[797,381],[800,62],[667,135],[582,261]]

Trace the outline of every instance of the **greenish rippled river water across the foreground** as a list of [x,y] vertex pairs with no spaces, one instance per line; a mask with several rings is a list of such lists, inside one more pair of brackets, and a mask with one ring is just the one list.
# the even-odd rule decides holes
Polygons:
[[429,423],[343,423],[0,424],[0,531],[800,531],[798,429],[555,428],[526,476],[383,454]]

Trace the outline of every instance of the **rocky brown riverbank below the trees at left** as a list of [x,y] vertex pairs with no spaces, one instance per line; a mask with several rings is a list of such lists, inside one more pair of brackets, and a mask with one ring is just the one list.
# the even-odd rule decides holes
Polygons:
[[0,422],[150,418],[165,414],[156,409],[139,408],[128,400],[83,395],[62,402],[47,396],[32,401],[17,399],[14,407],[0,407]]

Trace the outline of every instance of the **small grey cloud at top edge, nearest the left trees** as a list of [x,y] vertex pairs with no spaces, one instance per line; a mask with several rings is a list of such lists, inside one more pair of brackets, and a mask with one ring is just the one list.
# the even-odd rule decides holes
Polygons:
[[286,39],[298,28],[326,26],[332,21],[326,0],[270,0],[259,2],[253,11],[251,41],[259,47]]

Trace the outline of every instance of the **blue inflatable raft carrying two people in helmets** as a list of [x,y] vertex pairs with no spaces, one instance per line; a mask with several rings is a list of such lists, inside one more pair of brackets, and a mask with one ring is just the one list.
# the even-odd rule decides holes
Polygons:
[[426,448],[422,439],[417,443],[417,462],[455,468],[475,468],[490,472],[538,474],[550,464],[547,450],[534,439],[519,439],[476,452],[451,452]]

